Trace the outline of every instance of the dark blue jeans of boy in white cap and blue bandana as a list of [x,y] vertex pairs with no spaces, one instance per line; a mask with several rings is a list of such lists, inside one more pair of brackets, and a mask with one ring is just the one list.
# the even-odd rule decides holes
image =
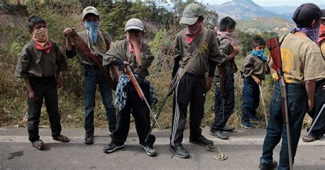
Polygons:
[[112,104],[112,88],[110,88],[110,84],[101,75],[97,66],[88,65],[84,65],[84,129],[86,132],[92,132],[95,129],[94,108],[97,84],[99,85],[101,99],[105,106],[109,130],[112,132],[115,130],[117,122],[115,107]]

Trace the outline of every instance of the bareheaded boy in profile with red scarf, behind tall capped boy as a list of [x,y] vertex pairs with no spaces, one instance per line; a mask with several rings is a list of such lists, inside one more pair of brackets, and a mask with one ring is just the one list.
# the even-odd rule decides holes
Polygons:
[[[217,41],[221,53],[221,65],[215,69],[213,82],[215,82],[215,119],[210,127],[210,134],[220,138],[228,139],[229,136],[223,132],[231,132],[234,127],[226,125],[234,111],[234,73],[237,71],[234,58],[239,54],[234,39],[236,22],[226,16],[221,19]],[[222,72],[222,73],[221,73]],[[224,94],[223,94],[224,93]]]

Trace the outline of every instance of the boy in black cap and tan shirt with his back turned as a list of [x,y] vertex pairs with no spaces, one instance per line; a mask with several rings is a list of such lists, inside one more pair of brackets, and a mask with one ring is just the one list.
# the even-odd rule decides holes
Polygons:
[[[273,149],[278,145],[281,137],[278,169],[292,169],[291,163],[296,155],[304,115],[307,109],[311,110],[314,106],[315,80],[324,77],[323,58],[317,47],[317,28],[320,27],[321,15],[320,8],[313,3],[300,5],[292,17],[297,27],[280,38],[281,56],[272,56],[274,63],[272,68],[280,68],[277,72],[283,72],[285,89],[281,88],[281,91],[287,90],[287,95],[280,93],[280,83],[275,82],[259,169],[276,167]],[[278,60],[282,62],[282,66],[277,65]],[[276,74],[273,77],[278,80]],[[287,102],[283,98],[287,98]],[[281,110],[281,106],[288,108],[286,118],[289,119],[282,118],[285,112]],[[289,123],[287,124],[289,129],[284,125],[285,121]],[[291,134],[291,138],[287,138],[287,132]],[[287,142],[288,139],[290,143]],[[291,145],[291,148],[288,145]]]

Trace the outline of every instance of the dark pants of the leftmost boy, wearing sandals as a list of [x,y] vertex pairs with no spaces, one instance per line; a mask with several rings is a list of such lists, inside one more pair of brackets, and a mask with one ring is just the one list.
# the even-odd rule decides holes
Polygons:
[[43,99],[45,100],[47,114],[49,115],[52,136],[59,136],[61,133],[61,124],[58,109],[58,88],[56,87],[56,78],[30,77],[29,80],[38,98],[36,101],[29,97],[27,99],[29,141],[33,143],[40,138],[38,135],[38,125],[40,123],[40,109],[42,108]]

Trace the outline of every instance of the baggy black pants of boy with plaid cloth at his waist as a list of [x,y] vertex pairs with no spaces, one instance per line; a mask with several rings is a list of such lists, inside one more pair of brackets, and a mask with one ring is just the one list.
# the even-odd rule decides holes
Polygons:
[[[145,94],[145,98],[147,101],[149,101],[149,86],[145,84],[140,84],[140,86]],[[154,135],[150,135],[147,142],[145,142],[145,138],[150,130],[149,108],[147,108],[145,101],[140,99],[131,82],[127,85],[126,90],[128,94],[127,101],[124,108],[119,111],[119,115],[117,117],[117,130],[112,133],[112,142],[119,145],[123,145],[125,143],[130,129],[130,116],[132,112],[140,144],[152,146],[156,141]]]

